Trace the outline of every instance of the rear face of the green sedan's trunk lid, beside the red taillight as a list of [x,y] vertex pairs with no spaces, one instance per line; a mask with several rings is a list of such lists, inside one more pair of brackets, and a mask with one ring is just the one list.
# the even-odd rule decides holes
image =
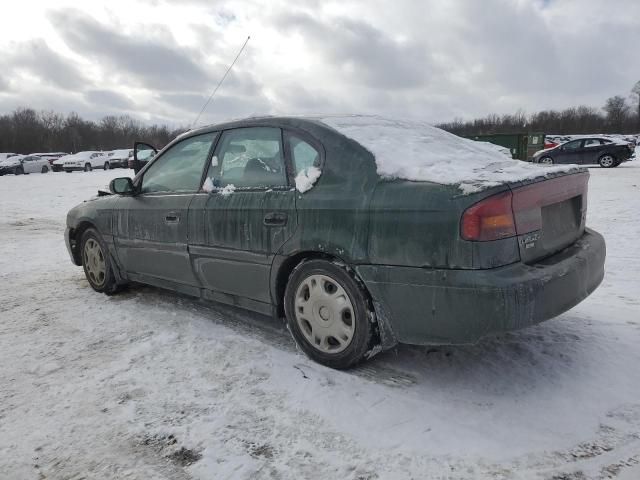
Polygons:
[[584,233],[589,173],[510,186],[520,259],[535,263],[568,247]]

